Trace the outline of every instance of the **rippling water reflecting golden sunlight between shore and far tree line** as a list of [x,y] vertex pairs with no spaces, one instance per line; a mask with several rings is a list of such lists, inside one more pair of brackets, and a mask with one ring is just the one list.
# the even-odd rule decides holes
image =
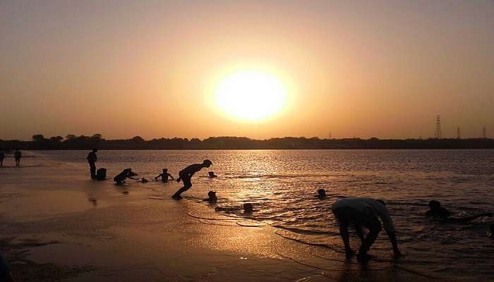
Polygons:
[[[35,157],[83,164],[87,154],[52,151]],[[494,240],[486,238],[493,219],[459,225],[423,216],[432,199],[458,216],[494,212],[494,150],[100,151],[98,158],[97,166],[108,168],[109,178],[133,168],[147,179],[162,168],[176,176],[188,164],[211,159],[211,168],[195,174],[193,188],[183,194],[186,200],[202,202],[208,190],[215,190],[219,202],[211,209],[251,202],[256,211],[248,217],[279,228],[277,233],[287,240],[319,245],[330,255],[343,251],[332,202],[347,196],[380,198],[387,202],[399,247],[406,253],[400,265],[430,276],[494,278]],[[218,177],[207,178],[207,171]],[[143,188],[140,191],[156,200],[179,187],[175,182],[134,180],[125,185],[126,190]],[[327,190],[327,200],[315,197],[319,188]],[[385,233],[370,253],[383,263],[390,259]]]

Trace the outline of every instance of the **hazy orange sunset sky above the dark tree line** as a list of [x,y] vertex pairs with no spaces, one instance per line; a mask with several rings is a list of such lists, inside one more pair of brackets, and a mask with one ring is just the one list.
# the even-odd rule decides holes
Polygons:
[[0,97],[0,139],[493,137],[494,1],[1,0]]

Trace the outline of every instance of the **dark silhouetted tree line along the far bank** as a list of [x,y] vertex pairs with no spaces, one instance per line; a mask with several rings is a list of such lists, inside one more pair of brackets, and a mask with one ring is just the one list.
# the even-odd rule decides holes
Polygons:
[[319,139],[318,137],[283,137],[254,140],[247,137],[159,138],[144,140],[105,140],[101,134],[44,137],[33,135],[31,141],[0,140],[0,149],[494,149],[494,139]]

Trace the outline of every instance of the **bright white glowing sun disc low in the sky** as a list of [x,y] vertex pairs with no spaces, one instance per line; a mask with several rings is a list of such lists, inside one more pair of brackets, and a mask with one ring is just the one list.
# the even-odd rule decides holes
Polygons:
[[263,121],[284,109],[287,90],[281,80],[270,73],[239,71],[219,82],[216,100],[230,117]]

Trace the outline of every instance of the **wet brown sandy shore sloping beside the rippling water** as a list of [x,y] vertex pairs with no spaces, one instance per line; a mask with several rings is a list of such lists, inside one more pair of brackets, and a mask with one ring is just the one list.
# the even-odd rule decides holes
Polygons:
[[345,262],[263,223],[171,200],[177,183],[150,193],[89,180],[86,169],[28,158],[0,169],[0,252],[16,281],[435,280],[392,260]]

